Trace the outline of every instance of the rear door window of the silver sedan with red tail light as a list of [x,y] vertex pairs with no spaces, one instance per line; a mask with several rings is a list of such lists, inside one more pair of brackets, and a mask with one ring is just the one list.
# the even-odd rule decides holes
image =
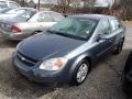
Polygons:
[[51,16],[50,13],[45,12],[38,15],[37,21],[38,22],[53,22],[53,18]]

